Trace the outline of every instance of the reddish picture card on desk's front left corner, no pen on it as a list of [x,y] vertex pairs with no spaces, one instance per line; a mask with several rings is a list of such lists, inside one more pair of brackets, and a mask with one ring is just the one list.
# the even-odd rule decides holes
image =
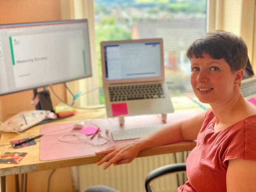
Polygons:
[[26,156],[27,153],[23,152],[5,152],[0,155],[1,164],[19,164],[20,161]]

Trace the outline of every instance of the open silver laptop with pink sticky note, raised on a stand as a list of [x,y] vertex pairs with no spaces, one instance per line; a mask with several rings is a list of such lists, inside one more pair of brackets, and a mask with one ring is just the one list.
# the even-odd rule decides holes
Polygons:
[[161,38],[104,41],[101,55],[108,117],[174,111],[164,82]]

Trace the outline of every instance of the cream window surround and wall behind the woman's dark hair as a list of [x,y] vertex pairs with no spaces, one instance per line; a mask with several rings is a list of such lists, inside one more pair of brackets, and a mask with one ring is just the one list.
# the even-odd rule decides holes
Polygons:
[[[208,0],[210,6],[208,30],[222,29],[241,36],[248,47],[248,56],[255,63],[255,3],[256,0]],[[256,71],[256,64],[254,64]]]

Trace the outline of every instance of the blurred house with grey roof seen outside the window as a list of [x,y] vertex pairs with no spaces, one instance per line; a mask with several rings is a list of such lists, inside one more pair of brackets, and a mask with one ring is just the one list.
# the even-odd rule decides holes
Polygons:
[[138,22],[133,25],[132,39],[162,38],[166,68],[184,68],[186,73],[187,67],[183,65],[188,63],[185,59],[187,47],[206,33],[205,26],[206,18],[202,17]]

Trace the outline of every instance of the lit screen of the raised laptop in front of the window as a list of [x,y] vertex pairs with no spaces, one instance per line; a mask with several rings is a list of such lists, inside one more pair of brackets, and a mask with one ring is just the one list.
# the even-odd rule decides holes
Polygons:
[[112,41],[102,46],[107,81],[161,77],[160,41]]

